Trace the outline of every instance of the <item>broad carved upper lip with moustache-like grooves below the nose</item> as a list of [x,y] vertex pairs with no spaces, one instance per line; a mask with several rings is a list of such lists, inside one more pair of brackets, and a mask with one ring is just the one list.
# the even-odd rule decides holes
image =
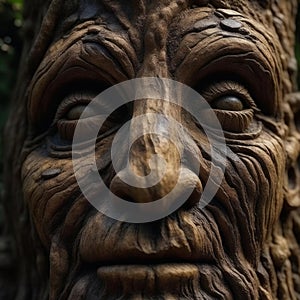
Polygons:
[[152,224],[126,224],[97,214],[80,239],[80,257],[99,269],[125,266],[211,263],[212,240],[207,226],[195,226],[181,213]]

